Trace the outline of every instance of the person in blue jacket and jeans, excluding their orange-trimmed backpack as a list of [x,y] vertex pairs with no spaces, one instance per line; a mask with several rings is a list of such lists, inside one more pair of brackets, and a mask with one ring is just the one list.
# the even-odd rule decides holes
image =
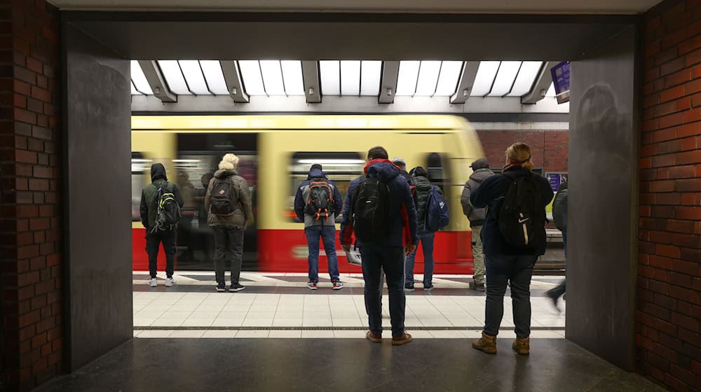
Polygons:
[[[343,288],[343,282],[339,277],[339,259],[336,256],[336,216],[341,214],[343,204],[341,202],[341,192],[333,181],[327,179],[326,174],[322,171],[323,167],[315,163],[309,169],[309,175],[306,181],[302,181],[297,188],[297,195],[294,196],[294,212],[297,214],[299,221],[304,222],[304,234],[307,239],[309,248],[309,281],[307,287],[310,290],[316,290],[319,283],[319,238],[324,242],[324,250],[329,263],[329,276],[331,276],[332,288],[340,290]],[[305,214],[304,207],[309,202],[310,185],[312,181],[326,182],[329,188],[332,189],[334,199],[334,211],[328,211],[328,216],[315,217]]]

